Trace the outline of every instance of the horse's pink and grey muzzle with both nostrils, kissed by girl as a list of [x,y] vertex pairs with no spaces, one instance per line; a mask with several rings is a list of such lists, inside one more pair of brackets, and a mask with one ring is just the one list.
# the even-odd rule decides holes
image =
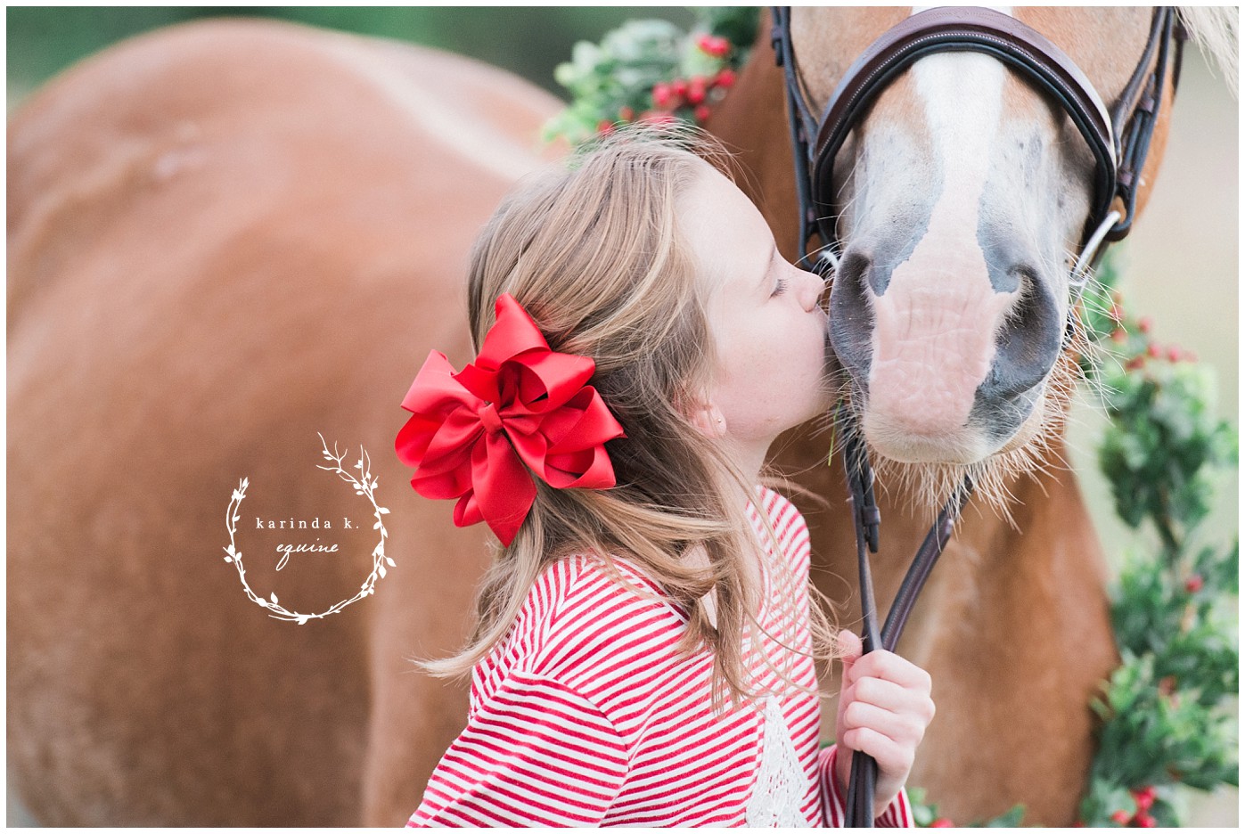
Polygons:
[[1027,438],[1045,413],[1066,309],[1030,264],[976,245],[923,246],[898,265],[848,248],[830,342],[876,453],[977,463]]

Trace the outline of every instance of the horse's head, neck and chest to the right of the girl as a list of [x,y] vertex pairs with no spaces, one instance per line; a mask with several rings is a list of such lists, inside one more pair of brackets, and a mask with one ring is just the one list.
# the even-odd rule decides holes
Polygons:
[[[1128,83],[1150,29],[1149,12],[1137,9],[1012,14],[1058,44],[1108,102]],[[854,57],[908,15],[792,10],[814,112]],[[1163,156],[1173,88],[1169,73],[1138,212]],[[757,172],[751,194],[794,259],[792,159],[773,151],[787,115],[753,106],[781,102],[782,90],[773,61],[751,62],[710,129]],[[966,52],[923,57],[899,76],[835,166],[845,208],[830,331],[883,488],[885,536],[873,561],[880,610],[933,510],[965,474],[977,483],[899,645],[931,673],[939,708],[911,783],[957,820],[1021,803],[1026,822],[1071,824],[1094,752],[1088,703],[1118,662],[1102,551],[1062,463],[1077,368],[1069,273],[1093,173],[1062,110],[1002,62]],[[824,436],[803,431],[783,463],[815,494],[843,494],[842,463],[808,468],[825,449]],[[839,578],[854,575],[850,514],[802,508],[818,518],[818,584],[842,595]]]

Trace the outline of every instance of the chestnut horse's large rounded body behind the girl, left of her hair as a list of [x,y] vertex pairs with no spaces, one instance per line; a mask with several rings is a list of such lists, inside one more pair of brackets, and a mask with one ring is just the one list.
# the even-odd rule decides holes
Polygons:
[[[40,822],[415,808],[467,701],[405,657],[461,644],[487,550],[406,487],[397,403],[432,346],[468,358],[471,240],[558,107],[456,56],[212,22],[16,115],[9,753]],[[362,515],[316,432],[372,454],[398,566],[342,615],[279,624],[223,561],[224,510],[247,476],[244,528]],[[238,536],[251,584],[303,611],[371,569],[359,538],[276,574],[259,535]]]

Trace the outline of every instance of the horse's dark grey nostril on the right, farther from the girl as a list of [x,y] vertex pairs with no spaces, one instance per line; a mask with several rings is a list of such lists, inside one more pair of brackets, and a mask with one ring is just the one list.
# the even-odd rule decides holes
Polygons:
[[1007,273],[1020,296],[998,330],[994,365],[979,388],[992,401],[1010,400],[1042,382],[1063,345],[1063,319],[1048,284],[1028,266]]

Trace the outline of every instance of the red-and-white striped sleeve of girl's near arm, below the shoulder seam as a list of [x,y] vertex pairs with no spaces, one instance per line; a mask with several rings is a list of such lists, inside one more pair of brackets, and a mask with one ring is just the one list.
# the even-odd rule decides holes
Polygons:
[[626,769],[622,738],[591,701],[512,675],[446,751],[407,828],[595,827]]

